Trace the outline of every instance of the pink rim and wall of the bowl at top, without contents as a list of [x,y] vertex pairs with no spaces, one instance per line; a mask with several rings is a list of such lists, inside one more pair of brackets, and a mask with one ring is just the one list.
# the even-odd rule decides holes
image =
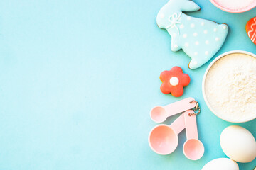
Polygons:
[[228,7],[225,7],[225,6],[221,6],[221,5],[218,3],[218,0],[210,0],[210,2],[211,2],[214,6],[216,6],[217,8],[220,8],[221,10],[226,11],[226,12],[229,12],[229,13],[242,13],[242,12],[249,11],[249,10],[251,10],[252,8],[255,8],[255,7],[256,7],[256,0],[253,1],[250,5],[246,6],[245,8],[238,8],[238,9],[228,8]]

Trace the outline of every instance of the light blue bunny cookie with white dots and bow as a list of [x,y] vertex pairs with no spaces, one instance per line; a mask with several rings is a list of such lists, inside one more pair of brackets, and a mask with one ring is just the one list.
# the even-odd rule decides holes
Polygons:
[[183,51],[191,57],[190,69],[208,62],[223,45],[228,34],[226,24],[187,16],[184,12],[198,11],[200,7],[189,0],[169,0],[159,11],[156,23],[171,35],[171,50]]

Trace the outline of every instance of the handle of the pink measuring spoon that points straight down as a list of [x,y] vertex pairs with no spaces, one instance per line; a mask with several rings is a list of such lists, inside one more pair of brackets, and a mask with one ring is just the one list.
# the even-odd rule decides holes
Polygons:
[[187,140],[195,139],[198,140],[198,130],[196,125],[196,115],[194,112],[189,110],[184,112],[185,126],[186,126],[186,137]]

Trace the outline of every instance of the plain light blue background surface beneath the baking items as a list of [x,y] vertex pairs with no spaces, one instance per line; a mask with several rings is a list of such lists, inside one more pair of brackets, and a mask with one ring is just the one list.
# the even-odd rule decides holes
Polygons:
[[[190,70],[183,51],[171,52],[170,36],[156,26],[166,0],[0,1],[0,169],[194,169],[218,157],[220,120],[203,101],[201,81],[209,62]],[[195,0],[190,16],[230,27],[215,57],[230,50],[256,53],[245,24],[256,8],[226,13]],[[213,58],[215,58],[213,57]],[[180,66],[190,75],[181,98],[161,94],[159,75]],[[198,161],[182,152],[151,151],[149,111],[182,98],[201,104]],[[178,115],[169,118],[170,124]],[[256,137],[256,120],[239,125]],[[256,160],[239,164],[250,170]]]

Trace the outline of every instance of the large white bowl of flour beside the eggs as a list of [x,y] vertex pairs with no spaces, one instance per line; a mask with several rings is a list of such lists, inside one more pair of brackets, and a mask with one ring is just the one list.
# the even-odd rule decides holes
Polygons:
[[219,118],[243,123],[256,118],[256,55],[230,51],[215,58],[203,77],[203,98]]

